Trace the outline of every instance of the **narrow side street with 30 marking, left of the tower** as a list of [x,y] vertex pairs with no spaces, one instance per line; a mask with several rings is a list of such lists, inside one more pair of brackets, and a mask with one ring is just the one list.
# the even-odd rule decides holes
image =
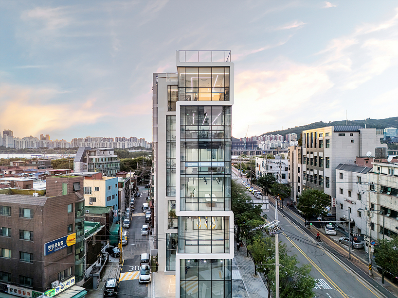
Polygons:
[[[141,206],[146,202],[148,196],[148,189],[144,186],[139,186],[139,192],[144,192],[140,198],[135,199],[135,211],[132,214],[130,228],[128,229],[128,243],[123,247],[123,263],[121,269],[121,277],[128,276],[135,278],[119,282],[118,298],[135,298],[147,297],[149,284],[139,284],[139,268],[140,255],[142,253],[150,253],[149,236],[141,236],[141,228],[145,224],[145,215],[138,215],[141,213]],[[126,231],[125,229],[124,231]],[[126,275],[127,272],[133,272]]]

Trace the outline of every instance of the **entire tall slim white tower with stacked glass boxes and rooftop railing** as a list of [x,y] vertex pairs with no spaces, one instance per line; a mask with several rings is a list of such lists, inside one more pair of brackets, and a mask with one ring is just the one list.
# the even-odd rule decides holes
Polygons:
[[154,228],[176,297],[232,297],[230,57],[177,51],[177,74],[153,74]]

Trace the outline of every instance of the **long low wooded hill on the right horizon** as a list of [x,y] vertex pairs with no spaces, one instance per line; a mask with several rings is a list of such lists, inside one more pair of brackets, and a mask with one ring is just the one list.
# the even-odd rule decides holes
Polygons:
[[[398,117],[391,117],[391,118],[385,118],[385,119],[370,119],[367,118],[365,120],[348,120],[347,125],[348,126],[362,126],[366,128],[376,128],[376,129],[384,129],[386,127],[398,127]],[[266,132],[261,135],[269,135],[269,134],[281,134],[285,135],[288,133],[297,133],[297,135],[300,135],[302,131],[309,130],[309,129],[314,129],[314,128],[320,128],[320,127],[326,127],[326,126],[338,126],[338,125],[345,125],[345,120],[340,120],[340,121],[333,121],[333,122],[314,122],[311,124],[303,125],[303,126],[296,126],[293,128],[288,128],[283,131],[274,131],[274,132]]]

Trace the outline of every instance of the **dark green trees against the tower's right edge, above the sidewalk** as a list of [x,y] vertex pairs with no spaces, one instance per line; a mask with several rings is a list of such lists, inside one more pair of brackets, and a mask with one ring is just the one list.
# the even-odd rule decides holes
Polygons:
[[261,216],[261,205],[253,206],[253,200],[248,196],[246,189],[234,180],[231,181],[231,200],[237,239],[241,238],[241,231],[248,231],[254,225],[252,220],[264,222],[267,218],[267,215]]

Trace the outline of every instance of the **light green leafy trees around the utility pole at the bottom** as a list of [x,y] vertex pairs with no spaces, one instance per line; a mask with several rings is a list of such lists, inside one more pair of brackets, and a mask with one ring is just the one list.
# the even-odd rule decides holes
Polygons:
[[[275,238],[262,237],[253,241],[248,248],[252,251],[254,272],[262,272],[268,287],[275,293]],[[286,244],[279,243],[279,296],[281,298],[314,297],[315,280],[309,276],[309,264],[298,266],[296,255],[289,256]],[[256,269],[257,268],[257,269]]]

